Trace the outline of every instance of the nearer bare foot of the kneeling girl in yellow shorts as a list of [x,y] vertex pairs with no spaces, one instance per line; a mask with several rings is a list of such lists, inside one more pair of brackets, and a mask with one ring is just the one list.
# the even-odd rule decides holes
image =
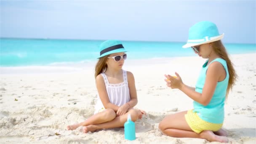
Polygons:
[[200,133],[203,139],[206,139],[207,141],[219,141],[219,142],[228,142],[229,139],[225,136],[218,136],[213,133],[213,131],[203,131]]

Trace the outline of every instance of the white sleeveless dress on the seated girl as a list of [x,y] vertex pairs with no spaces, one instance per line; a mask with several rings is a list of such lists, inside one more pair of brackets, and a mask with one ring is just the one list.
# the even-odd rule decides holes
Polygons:
[[[131,100],[130,91],[128,87],[128,79],[127,79],[127,72],[123,70],[123,82],[112,84],[109,83],[107,79],[107,75],[104,72],[101,73],[104,83],[107,90],[107,95],[109,97],[109,102],[112,104],[117,105],[118,107],[122,106],[123,104],[129,102]],[[95,105],[95,112],[94,114],[98,113],[101,109],[104,109],[104,106],[99,98],[99,94],[97,96],[97,103]]]

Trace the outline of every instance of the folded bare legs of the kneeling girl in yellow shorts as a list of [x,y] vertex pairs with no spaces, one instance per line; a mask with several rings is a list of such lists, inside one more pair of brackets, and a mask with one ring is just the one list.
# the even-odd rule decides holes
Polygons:
[[200,138],[208,141],[228,142],[227,137],[215,135],[213,131],[195,133],[187,124],[184,116],[185,114],[187,114],[187,111],[166,116],[159,123],[160,131],[167,136],[178,138]]

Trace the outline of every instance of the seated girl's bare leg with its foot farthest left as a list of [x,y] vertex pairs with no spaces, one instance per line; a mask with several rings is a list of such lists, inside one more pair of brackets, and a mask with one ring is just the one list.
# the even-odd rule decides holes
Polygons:
[[105,109],[103,112],[99,112],[82,123],[78,123],[75,125],[68,125],[67,130],[75,130],[80,126],[88,126],[92,124],[105,123],[113,120],[116,117],[115,111],[113,109]]

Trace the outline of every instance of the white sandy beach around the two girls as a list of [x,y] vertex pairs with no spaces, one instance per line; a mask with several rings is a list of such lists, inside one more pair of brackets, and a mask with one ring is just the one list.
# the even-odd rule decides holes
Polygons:
[[[256,53],[232,55],[239,79],[225,105],[224,121],[232,144],[256,143],[255,57]],[[194,86],[204,61],[200,57],[126,61],[123,69],[133,72],[136,81],[136,108],[147,112],[136,122],[136,140],[132,143],[206,142],[163,136],[158,131],[166,115],[192,109],[192,100],[168,88],[163,75],[176,71],[185,84]],[[1,67],[0,73],[1,144],[129,143],[123,128],[87,134],[80,128],[66,130],[67,125],[93,115],[97,95],[93,67]]]

